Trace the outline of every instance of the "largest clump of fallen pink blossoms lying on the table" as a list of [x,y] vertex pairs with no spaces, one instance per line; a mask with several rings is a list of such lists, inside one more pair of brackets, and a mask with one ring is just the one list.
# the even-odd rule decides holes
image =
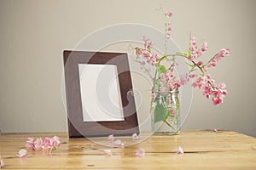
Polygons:
[[26,148],[32,148],[33,150],[51,150],[61,146],[61,140],[59,137],[54,136],[52,138],[46,137],[43,141],[42,138],[34,139],[29,137],[26,139]]

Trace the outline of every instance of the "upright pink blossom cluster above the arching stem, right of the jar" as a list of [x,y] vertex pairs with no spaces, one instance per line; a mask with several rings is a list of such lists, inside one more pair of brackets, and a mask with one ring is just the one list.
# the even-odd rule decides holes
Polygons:
[[191,37],[191,40],[190,40],[189,44],[190,44],[190,48],[189,48],[190,54],[188,56],[188,59],[191,60],[191,61],[193,59],[196,59],[196,58],[200,57],[208,49],[207,42],[203,42],[201,48],[198,48],[198,46],[197,46],[197,37]]

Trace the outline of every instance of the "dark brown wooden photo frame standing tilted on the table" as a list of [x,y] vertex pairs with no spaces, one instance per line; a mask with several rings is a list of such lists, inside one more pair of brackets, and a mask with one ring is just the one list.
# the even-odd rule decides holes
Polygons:
[[[107,136],[109,134],[131,135],[132,133],[139,133],[137,110],[134,96],[132,95],[131,72],[127,54],[64,50],[63,59],[65,71],[68,134],[70,138],[100,137]],[[116,77],[118,77],[117,84],[119,85],[118,88],[121,100],[119,102],[123,117],[121,117],[119,120],[84,121],[84,107],[86,108],[86,105],[82,102],[82,97],[85,96],[87,99],[90,99],[92,96],[86,96],[86,90],[85,93],[81,94],[82,88],[79,76],[79,65],[92,65],[94,69],[97,68],[96,65],[100,66],[101,68],[104,68],[104,65],[106,65],[106,68],[109,65],[113,65],[114,68],[116,68],[118,74],[116,75]],[[88,74],[94,73],[89,72]],[[84,81],[87,81],[86,83],[90,83],[90,80],[86,80],[86,77],[84,78]],[[100,97],[100,99],[102,99],[102,104],[107,107],[108,105],[112,105],[111,103],[108,104],[108,102],[111,101],[108,99],[108,92],[104,90],[104,83],[97,82],[96,86],[98,86],[98,84],[103,85],[103,90],[100,90],[99,93],[102,94],[103,98],[107,96],[106,99],[102,99],[102,97]],[[109,85],[106,86],[106,89],[108,89]],[[97,89],[102,89],[102,87]],[[96,111],[90,114],[96,115],[98,112]]]

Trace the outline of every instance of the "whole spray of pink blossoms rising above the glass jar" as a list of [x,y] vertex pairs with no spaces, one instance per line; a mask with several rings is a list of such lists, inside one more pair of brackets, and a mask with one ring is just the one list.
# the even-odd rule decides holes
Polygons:
[[[166,12],[164,14],[167,18],[172,17],[172,12]],[[170,39],[171,37],[171,23],[166,22],[165,26],[165,41],[167,41],[167,39]],[[204,64],[201,60],[198,60],[198,58],[207,51],[208,43],[202,42],[201,46],[199,46],[197,37],[190,37],[189,49],[187,53],[164,54],[161,57],[157,54],[152,54],[153,42],[146,37],[143,37],[143,41],[144,48],[135,48],[137,62],[142,65],[142,68],[145,71],[148,71],[146,66],[147,63],[156,67],[156,71],[158,71],[158,73],[155,74],[154,78],[152,77],[154,80],[154,91],[166,93],[168,91],[180,88],[189,82],[190,79],[193,79],[195,82],[193,82],[192,87],[201,88],[203,90],[203,95],[205,95],[207,99],[212,99],[213,105],[219,105],[224,102],[224,97],[227,94],[225,84],[217,84],[210,75],[207,75],[207,70],[216,66],[219,60],[229,55],[230,48],[223,48],[220,52],[218,52],[218,54],[215,54],[211,59],[209,59],[207,64]],[[167,43],[165,42],[165,44]],[[174,71],[177,66],[177,56],[188,59],[186,64],[189,65],[190,70],[184,75],[177,75]],[[161,64],[161,62],[164,60],[170,62],[170,66],[168,66],[167,69],[166,65]],[[162,69],[162,67],[164,68]],[[200,73],[197,71],[200,71]],[[155,99],[156,94],[153,92],[151,97]]]

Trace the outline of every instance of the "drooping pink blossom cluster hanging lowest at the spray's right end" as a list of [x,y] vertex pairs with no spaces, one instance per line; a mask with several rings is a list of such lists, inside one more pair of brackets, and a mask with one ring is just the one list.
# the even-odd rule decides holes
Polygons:
[[194,88],[203,89],[203,95],[205,95],[207,99],[212,99],[213,105],[222,104],[224,102],[225,95],[228,94],[225,89],[225,83],[221,82],[217,85],[210,75],[199,77],[192,83],[192,86]]

